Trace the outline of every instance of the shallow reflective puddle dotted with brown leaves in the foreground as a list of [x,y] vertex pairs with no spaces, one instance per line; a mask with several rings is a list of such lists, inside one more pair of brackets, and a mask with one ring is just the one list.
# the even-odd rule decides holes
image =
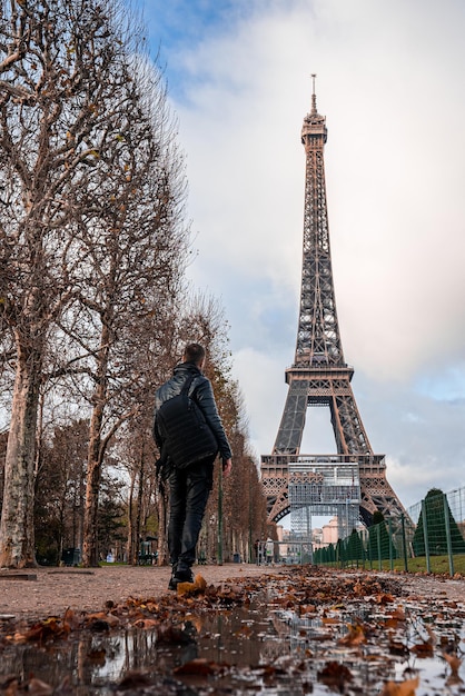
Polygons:
[[[387,612],[358,600],[317,614],[300,607],[297,614],[273,601],[269,593],[258,594],[247,607],[210,610],[201,619],[187,613],[178,645],[161,643],[154,629],[136,628],[71,633],[43,646],[6,644],[0,693],[14,675],[19,685],[33,676],[53,687],[38,694],[89,696],[365,696],[382,694],[387,680],[417,676],[412,696],[465,694],[462,665],[454,673],[442,657],[463,656],[464,619],[454,607],[432,606],[428,614],[427,603],[396,599]],[[393,619],[396,613],[402,620]]]

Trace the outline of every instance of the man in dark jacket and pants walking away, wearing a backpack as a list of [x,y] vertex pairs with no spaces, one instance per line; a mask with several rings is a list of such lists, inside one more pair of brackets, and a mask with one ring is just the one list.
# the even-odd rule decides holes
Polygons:
[[[196,559],[205,508],[214,481],[214,463],[219,453],[222,471],[229,476],[233,467],[231,449],[215,402],[210,380],[205,377],[206,352],[199,344],[188,344],[182,362],[172,377],[155,395],[154,438],[160,450],[161,476],[169,486],[168,549],[171,564],[169,589],[179,583],[192,583],[191,567]],[[199,407],[208,427],[211,445],[204,446],[201,426],[195,435],[187,435],[184,417],[171,414],[170,432],[161,406],[181,394],[188,386],[188,396]],[[204,428],[205,430],[205,428]],[[211,438],[212,434],[212,438]]]

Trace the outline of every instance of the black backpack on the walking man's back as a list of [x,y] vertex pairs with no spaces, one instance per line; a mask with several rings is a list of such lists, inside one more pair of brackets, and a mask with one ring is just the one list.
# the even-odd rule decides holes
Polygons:
[[179,469],[218,451],[218,443],[201,409],[188,395],[194,378],[190,375],[180,394],[164,401],[157,411],[164,458],[168,455]]

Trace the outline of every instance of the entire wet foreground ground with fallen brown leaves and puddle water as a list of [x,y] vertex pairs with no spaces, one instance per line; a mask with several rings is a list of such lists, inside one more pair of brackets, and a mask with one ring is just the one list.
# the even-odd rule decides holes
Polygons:
[[465,606],[396,577],[294,568],[180,590],[4,619],[0,693],[465,694]]

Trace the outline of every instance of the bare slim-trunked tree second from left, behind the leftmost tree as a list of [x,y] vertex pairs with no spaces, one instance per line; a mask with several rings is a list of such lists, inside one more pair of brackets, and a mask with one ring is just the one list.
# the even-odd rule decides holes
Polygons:
[[[140,82],[139,72],[138,88]],[[149,73],[144,87],[146,93],[159,91]],[[135,106],[137,97],[132,97]],[[131,158],[127,161],[119,143],[118,161],[126,176],[113,182],[117,205],[100,211],[98,237],[87,236],[87,229],[86,236],[79,236],[90,277],[97,279],[86,282],[82,277],[79,294],[92,328],[85,338],[79,334],[92,384],[85,565],[98,563],[95,535],[106,447],[120,425],[146,407],[147,349],[165,329],[166,307],[185,269],[187,233],[179,208],[184,189],[179,160],[166,142],[174,131],[164,108],[158,105],[157,128],[139,107],[136,113],[128,109],[123,132],[130,135],[125,138]],[[76,337],[76,331],[70,334]]]

